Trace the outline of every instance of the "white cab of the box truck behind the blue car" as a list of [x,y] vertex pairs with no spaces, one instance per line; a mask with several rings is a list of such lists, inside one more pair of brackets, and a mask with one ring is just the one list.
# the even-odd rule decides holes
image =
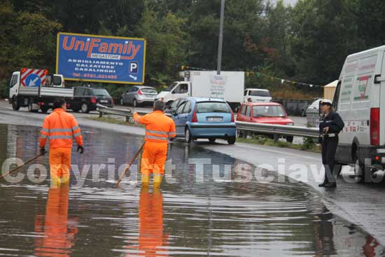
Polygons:
[[167,106],[179,98],[191,96],[191,82],[190,81],[176,81],[169,85],[168,88],[158,94],[156,100],[162,100]]

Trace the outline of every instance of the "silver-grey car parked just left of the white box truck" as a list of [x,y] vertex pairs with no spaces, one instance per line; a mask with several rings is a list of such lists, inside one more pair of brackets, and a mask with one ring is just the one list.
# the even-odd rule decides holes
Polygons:
[[158,92],[155,88],[147,85],[134,85],[129,90],[123,93],[120,97],[120,104],[132,105],[137,107],[139,105],[153,104]]

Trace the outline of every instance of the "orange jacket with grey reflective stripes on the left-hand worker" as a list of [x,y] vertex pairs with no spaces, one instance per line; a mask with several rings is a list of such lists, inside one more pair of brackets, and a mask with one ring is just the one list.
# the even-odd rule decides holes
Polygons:
[[83,137],[75,118],[63,109],[55,109],[45,117],[43,128],[40,132],[40,146],[50,140],[50,148],[71,148],[73,137],[78,146],[83,146]]

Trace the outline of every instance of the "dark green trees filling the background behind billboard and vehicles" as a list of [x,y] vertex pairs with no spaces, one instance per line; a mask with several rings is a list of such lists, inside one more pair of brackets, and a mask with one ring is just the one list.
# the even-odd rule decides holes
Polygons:
[[[385,44],[383,0],[274,3],[226,0],[223,70],[325,85],[337,79],[347,55]],[[158,88],[178,78],[180,65],[216,69],[221,0],[0,0],[0,5],[0,80],[20,67],[53,71],[59,31],[145,38],[146,84]],[[126,88],[104,87],[114,97]],[[321,95],[262,76],[246,77],[246,87],[268,88],[273,97]]]

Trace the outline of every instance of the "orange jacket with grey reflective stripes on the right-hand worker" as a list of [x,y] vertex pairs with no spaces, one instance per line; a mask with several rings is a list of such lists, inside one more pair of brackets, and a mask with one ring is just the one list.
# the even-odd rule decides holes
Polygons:
[[168,143],[169,138],[176,137],[175,123],[162,111],[153,111],[145,116],[134,113],[136,123],[146,125],[146,141]]

